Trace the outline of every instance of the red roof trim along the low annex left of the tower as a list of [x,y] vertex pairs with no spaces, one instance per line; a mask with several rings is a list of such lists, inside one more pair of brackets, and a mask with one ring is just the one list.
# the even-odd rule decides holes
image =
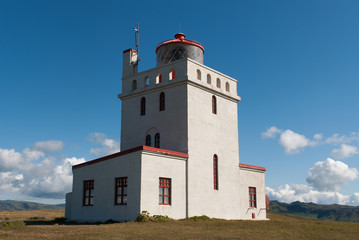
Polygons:
[[94,163],[98,163],[98,162],[102,162],[102,161],[106,161],[115,157],[119,157],[119,156],[123,156],[129,153],[133,153],[133,152],[137,152],[137,151],[151,151],[151,152],[157,152],[157,153],[162,153],[165,155],[172,155],[172,156],[177,156],[177,157],[184,157],[184,158],[188,158],[188,154],[187,153],[182,153],[182,152],[176,152],[176,151],[171,151],[171,150],[166,150],[166,149],[161,149],[161,148],[154,148],[154,147],[148,147],[148,146],[139,146],[139,147],[135,147],[135,148],[131,148],[122,152],[117,152],[111,155],[107,155],[101,158],[97,158],[95,160],[92,161],[88,161],[88,162],[84,162],[84,163],[80,163],[77,165],[72,166],[72,169],[77,169],[83,166],[87,166],[87,165],[92,165]]

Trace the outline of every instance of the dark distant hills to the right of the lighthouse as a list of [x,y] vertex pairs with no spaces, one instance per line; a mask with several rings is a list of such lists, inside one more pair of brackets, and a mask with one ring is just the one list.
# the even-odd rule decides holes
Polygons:
[[359,207],[345,205],[319,205],[315,203],[270,201],[269,212],[282,213],[314,220],[359,222]]

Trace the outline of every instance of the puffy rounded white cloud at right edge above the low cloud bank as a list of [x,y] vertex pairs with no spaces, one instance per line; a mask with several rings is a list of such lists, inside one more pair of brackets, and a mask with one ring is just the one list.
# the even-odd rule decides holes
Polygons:
[[337,191],[358,178],[358,170],[341,161],[327,158],[308,170],[307,182],[319,191]]

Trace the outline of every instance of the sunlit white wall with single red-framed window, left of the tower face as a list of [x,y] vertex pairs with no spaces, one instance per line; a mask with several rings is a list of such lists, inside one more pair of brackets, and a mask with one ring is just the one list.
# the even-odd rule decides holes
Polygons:
[[[186,158],[152,152],[142,155],[141,211],[186,218]],[[159,205],[159,178],[171,179],[171,205]]]

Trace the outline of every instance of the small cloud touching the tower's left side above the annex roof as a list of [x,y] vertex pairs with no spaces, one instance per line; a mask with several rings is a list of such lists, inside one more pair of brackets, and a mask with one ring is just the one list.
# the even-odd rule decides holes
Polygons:
[[91,148],[90,153],[94,156],[104,156],[120,151],[121,144],[118,141],[107,138],[103,133],[92,133],[90,142],[102,145],[100,148]]

